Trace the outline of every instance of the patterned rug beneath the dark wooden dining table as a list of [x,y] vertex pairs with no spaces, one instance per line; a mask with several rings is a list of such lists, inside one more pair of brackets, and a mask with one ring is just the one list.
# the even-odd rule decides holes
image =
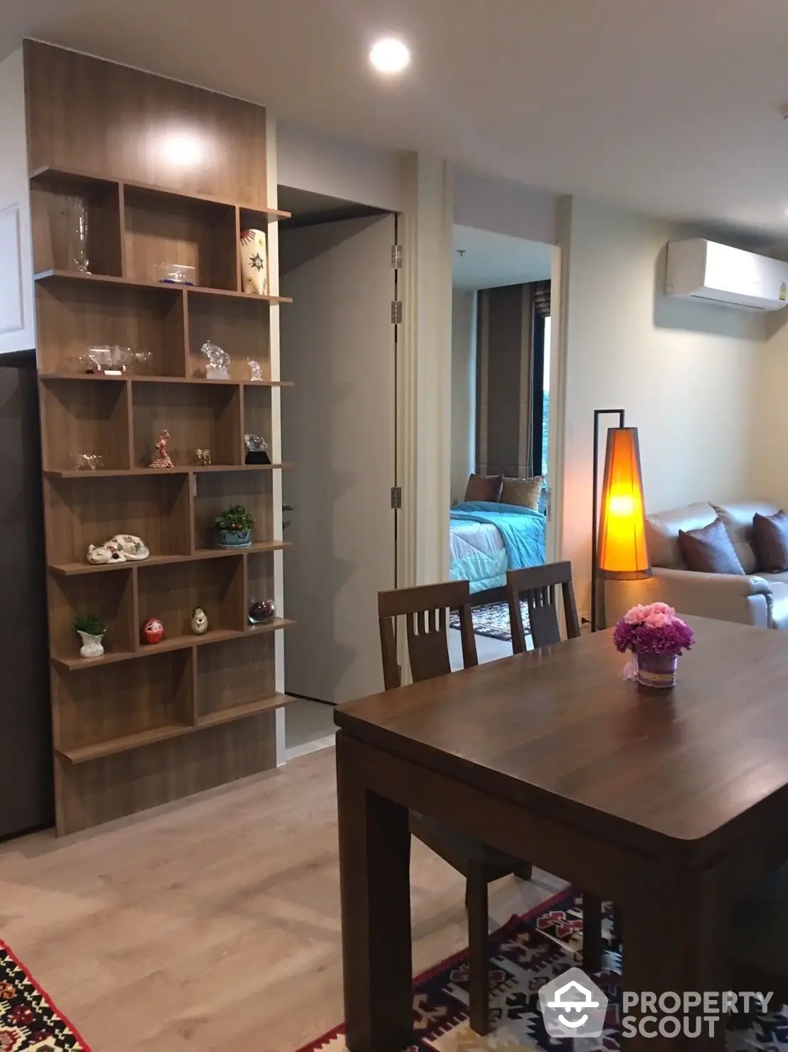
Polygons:
[[[567,890],[521,917],[512,917],[491,935],[491,1033],[479,1037],[468,1025],[468,951],[443,960],[414,984],[415,1043],[402,1052],[572,1052],[572,1040],[551,1038],[539,1012],[538,990],[573,966],[582,967],[582,899]],[[605,936],[610,928],[609,909]],[[606,1026],[586,1052],[618,1052],[621,954],[608,949],[595,976],[609,997]],[[346,1052],[344,1028],[306,1045],[299,1052]],[[788,1016],[758,1018],[751,1030],[730,1031],[727,1052],[788,1052]]]

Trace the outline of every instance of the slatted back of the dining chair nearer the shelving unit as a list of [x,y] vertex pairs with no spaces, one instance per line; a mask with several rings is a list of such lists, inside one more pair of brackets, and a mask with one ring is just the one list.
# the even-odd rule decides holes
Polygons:
[[468,581],[448,581],[444,584],[378,592],[380,651],[387,690],[401,685],[394,632],[394,622],[398,616],[406,618],[408,656],[413,682],[420,683],[451,672],[447,610],[459,611],[464,667],[478,665]]

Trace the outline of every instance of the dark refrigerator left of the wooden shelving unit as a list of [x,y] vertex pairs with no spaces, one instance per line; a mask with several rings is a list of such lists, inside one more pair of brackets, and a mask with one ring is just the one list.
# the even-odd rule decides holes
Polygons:
[[33,352],[0,356],[0,838],[54,820],[41,440]]

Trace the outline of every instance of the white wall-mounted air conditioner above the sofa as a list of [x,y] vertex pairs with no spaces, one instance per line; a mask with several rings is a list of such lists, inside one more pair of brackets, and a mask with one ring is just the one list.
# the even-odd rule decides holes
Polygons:
[[788,263],[704,238],[670,241],[665,292],[741,310],[788,305]]

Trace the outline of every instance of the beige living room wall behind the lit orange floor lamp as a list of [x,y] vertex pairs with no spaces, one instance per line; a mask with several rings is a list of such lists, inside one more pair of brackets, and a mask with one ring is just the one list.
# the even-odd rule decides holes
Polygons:
[[[594,410],[624,408],[626,423],[639,428],[647,511],[752,497],[751,449],[768,348],[762,317],[662,295],[665,243],[689,231],[577,199],[564,207],[561,550],[573,561],[585,611]],[[784,392],[783,339],[785,353],[775,349],[773,358]],[[784,429],[788,436],[788,423]]]

